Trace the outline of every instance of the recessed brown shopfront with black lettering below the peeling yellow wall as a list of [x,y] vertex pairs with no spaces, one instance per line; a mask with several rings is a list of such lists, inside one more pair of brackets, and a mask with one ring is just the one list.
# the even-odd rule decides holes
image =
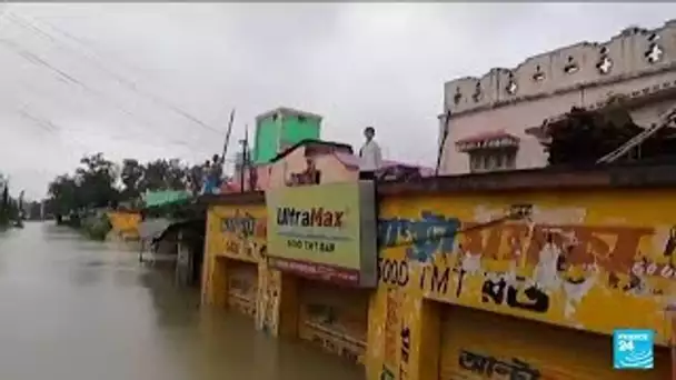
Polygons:
[[459,306],[444,309],[439,380],[669,378],[666,348],[655,348],[654,370],[618,371],[612,336]]

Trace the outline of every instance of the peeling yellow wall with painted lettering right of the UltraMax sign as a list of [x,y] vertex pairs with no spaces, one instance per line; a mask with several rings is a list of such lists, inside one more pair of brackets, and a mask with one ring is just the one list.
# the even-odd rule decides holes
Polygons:
[[[607,344],[615,328],[650,328],[665,346],[676,214],[664,210],[676,207],[675,196],[599,189],[384,199],[368,379],[438,379],[448,304],[602,333]],[[504,219],[516,206],[529,217]],[[563,350],[550,343],[559,349],[546,358],[554,364],[576,350],[573,340]]]

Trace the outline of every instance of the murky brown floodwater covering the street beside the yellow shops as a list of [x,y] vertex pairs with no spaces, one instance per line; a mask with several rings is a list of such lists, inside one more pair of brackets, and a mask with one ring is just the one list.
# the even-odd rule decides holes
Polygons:
[[27,223],[0,232],[0,379],[362,380],[364,370],[252,321],[119,243]]

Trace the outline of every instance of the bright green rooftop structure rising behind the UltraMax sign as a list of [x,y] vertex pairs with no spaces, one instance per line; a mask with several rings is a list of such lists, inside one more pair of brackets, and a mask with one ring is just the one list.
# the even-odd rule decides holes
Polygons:
[[256,118],[256,136],[251,161],[266,163],[279,152],[305,139],[319,139],[321,117],[278,108]]

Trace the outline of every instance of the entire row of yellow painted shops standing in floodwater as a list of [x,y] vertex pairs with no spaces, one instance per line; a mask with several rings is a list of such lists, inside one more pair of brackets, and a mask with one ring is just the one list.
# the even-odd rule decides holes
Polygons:
[[[676,183],[610,174],[207,196],[202,303],[369,380],[676,379]],[[617,329],[654,333],[652,369],[615,368]]]

